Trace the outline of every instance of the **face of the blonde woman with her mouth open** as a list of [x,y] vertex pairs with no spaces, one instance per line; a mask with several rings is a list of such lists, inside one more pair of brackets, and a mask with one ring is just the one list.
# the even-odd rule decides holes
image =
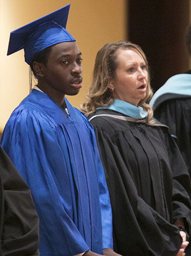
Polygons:
[[148,71],[142,56],[133,48],[119,49],[115,78],[108,87],[115,99],[137,106],[146,96]]

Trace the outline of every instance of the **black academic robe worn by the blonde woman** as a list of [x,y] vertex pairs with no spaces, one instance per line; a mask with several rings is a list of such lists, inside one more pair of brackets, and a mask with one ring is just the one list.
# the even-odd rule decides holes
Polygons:
[[[89,118],[98,114],[124,116],[99,109]],[[190,177],[168,128],[134,121],[91,120],[110,194],[114,250],[176,256],[182,240],[173,223],[184,218],[191,228]]]

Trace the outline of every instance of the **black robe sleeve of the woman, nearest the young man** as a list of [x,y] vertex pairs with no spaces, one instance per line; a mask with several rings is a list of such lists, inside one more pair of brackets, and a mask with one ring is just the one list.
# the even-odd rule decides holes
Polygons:
[[111,129],[101,128],[99,123],[96,125],[94,120],[91,124],[96,133],[112,206],[114,250],[132,256],[142,255],[143,251],[151,256],[175,256],[181,245],[178,228],[138,196],[117,145],[116,134]]

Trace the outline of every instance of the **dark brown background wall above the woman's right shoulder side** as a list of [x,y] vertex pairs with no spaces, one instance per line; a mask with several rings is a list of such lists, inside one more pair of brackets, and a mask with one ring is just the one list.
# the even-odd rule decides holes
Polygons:
[[128,0],[127,4],[128,40],[145,52],[156,91],[172,75],[189,69],[184,45],[189,0]]

